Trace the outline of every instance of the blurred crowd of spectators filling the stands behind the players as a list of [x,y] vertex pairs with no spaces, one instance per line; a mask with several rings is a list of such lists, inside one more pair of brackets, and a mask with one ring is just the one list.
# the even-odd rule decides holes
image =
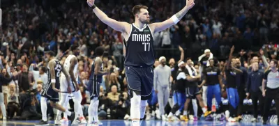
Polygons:
[[[109,17],[129,23],[134,22],[131,10],[139,3],[149,7],[151,22],[164,21],[186,4],[184,0],[96,0]],[[7,118],[40,119],[40,92],[47,77],[44,52],[56,52],[63,63],[74,44],[80,46],[78,70],[79,81],[84,82],[84,114],[90,103],[86,82],[99,46],[105,47],[103,64],[110,70],[103,77],[99,116],[123,119],[128,114],[123,36],[100,22],[85,0],[2,0],[1,8],[1,74],[10,77],[21,71],[10,84],[0,82]],[[243,57],[243,66],[248,69],[249,60],[260,48],[266,57],[278,58],[278,22],[278,0],[195,1],[195,7],[178,24],[153,35],[156,58],[165,56],[167,63],[174,65],[182,52],[199,65],[198,57],[211,49],[214,57],[225,61],[234,45],[235,55]],[[156,61],[155,66],[158,64]],[[54,117],[53,110],[48,113]]]

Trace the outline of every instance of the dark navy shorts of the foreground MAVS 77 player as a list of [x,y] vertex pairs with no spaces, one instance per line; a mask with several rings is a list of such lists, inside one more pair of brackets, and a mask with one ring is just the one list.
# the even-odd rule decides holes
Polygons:
[[137,68],[126,66],[126,81],[129,95],[133,97],[133,91],[141,95],[142,100],[149,100],[153,89],[153,68]]

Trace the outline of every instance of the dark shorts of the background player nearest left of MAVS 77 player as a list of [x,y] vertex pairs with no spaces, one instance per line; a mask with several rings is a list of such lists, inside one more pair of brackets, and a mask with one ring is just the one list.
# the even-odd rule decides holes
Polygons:
[[100,96],[100,82],[89,79],[89,93],[90,100],[93,100],[94,97]]

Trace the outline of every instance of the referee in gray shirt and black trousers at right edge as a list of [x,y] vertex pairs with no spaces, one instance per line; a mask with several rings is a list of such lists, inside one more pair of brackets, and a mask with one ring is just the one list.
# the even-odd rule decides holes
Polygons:
[[[274,59],[271,60],[271,70],[264,73],[264,79],[262,81],[262,95],[265,98],[263,125],[266,125],[266,121],[268,120],[272,100],[276,103],[276,114],[277,118],[279,118],[279,71],[276,69],[277,66],[278,62]],[[279,121],[277,124],[279,125]]]

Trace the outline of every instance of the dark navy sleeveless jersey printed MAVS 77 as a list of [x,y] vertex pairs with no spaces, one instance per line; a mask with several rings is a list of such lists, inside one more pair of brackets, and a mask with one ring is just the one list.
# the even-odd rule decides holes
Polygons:
[[153,51],[153,34],[148,24],[142,29],[131,24],[128,40],[124,40],[126,47],[125,65],[135,67],[149,67],[155,62]]

